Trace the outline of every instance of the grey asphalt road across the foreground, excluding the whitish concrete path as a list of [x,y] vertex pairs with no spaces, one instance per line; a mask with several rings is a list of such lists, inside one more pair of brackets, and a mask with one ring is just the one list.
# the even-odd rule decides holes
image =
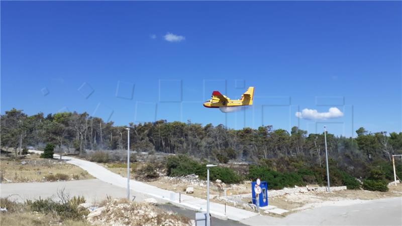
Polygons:
[[[87,201],[101,201],[106,195],[126,197],[124,188],[108,184],[98,179],[43,182],[43,183],[10,183],[0,184],[0,196],[11,195],[14,199],[24,201],[27,198],[54,197],[57,190],[65,188],[70,195],[83,195]],[[148,196],[131,192],[136,200],[141,201]],[[194,219],[193,210],[169,205],[161,200],[161,207]],[[333,205],[316,207],[290,214],[283,218],[272,216],[253,216],[241,222],[213,218],[213,225],[402,225],[402,197],[374,199],[350,204],[334,202]]]

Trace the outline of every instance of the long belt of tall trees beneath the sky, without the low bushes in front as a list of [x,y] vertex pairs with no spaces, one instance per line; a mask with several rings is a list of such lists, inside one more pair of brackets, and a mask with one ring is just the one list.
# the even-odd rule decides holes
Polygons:
[[[186,154],[219,163],[257,164],[265,160],[265,163],[280,164],[283,161],[278,160],[285,158],[325,166],[324,134],[308,134],[297,127],[289,133],[272,126],[234,130],[223,125],[163,120],[130,123],[129,127],[130,149],[137,152]],[[13,108],[1,116],[1,146],[17,152],[19,148],[40,148],[52,143],[56,153],[63,150],[85,155],[87,150],[125,149],[125,128],[86,112],[28,116],[23,110]],[[328,133],[327,142],[330,161],[356,178],[369,176],[373,166],[390,163],[392,155],[402,154],[402,133],[372,133],[359,128],[355,138]]]

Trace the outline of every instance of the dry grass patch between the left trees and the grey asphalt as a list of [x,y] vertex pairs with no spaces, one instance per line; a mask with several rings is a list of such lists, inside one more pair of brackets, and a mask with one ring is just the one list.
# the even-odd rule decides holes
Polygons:
[[41,159],[38,154],[30,154],[17,160],[14,160],[13,156],[2,155],[0,171],[3,177],[1,183],[93,178],[77,166],[57,159]]

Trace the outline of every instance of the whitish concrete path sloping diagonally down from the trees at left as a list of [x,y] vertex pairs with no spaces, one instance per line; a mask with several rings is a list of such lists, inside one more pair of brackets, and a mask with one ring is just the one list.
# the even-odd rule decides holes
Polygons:
[[[42,151],[29,150],[34,153],[42,153]],[[54,155],[55,158],[59,158],[59,155]],[[63,160],[67,160],[68,163],[79,166],[83,170],[86,170],[89,174],[104,182],[116,185],[118,187],[127,187],[127,178],[122,177],[116,173],[107,170],[105,167],[96,163],[73,158],[70,156],[62,156]],[[179,193],[175,193],[169,190],[164,190],[143,182],[136,180],[130,180],[130,190],[134,190],[139,193],[143,193],[149,196],[153,196],[158,199],[163,199],[176,206],[196,211],[207,211],[207,200],[202,198],[196,198],[190,195],[181,194],[181,201],[179,201]],[[250,218],[258,215],[256,212],[247,211],[244,209],[235,208],[233,206],[210,202],[210,212],[216,218],[220,219],[232,219],[241,221],[243,219]]]

